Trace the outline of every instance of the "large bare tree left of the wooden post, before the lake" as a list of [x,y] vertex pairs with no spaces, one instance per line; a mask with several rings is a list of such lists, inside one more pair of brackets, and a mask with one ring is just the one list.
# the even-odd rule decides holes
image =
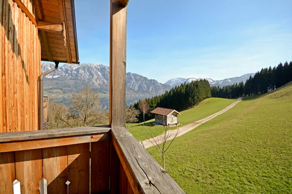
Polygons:
[[74,93],[71,99],[73,105],[72,117],[79,119],[83,127],[99,124],[102,113],[99,110],[99,94],[89,87],[84,87],[80,92]]

